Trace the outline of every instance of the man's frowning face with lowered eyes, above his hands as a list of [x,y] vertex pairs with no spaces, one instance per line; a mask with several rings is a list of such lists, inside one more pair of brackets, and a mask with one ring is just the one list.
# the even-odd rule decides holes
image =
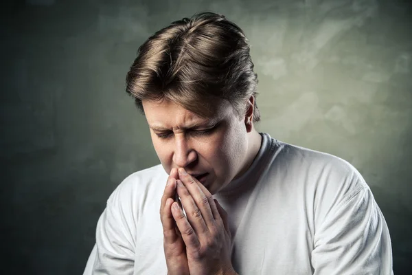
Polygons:
[[166,173],[183,167],[211,194],[238,176],[247,157],[247,129],[229,102],[220,102],[209,118],[168,100],[144,100],[143,107]]

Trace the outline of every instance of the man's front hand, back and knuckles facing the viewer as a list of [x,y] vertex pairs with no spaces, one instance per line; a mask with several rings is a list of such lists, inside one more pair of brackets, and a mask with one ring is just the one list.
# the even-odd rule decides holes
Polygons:
[[185,208],[178,203],[172,214],[186,245],[191,275],[236,274],[231,265],[231,234],[227,213],[196,178],[179,169],[177,192]]

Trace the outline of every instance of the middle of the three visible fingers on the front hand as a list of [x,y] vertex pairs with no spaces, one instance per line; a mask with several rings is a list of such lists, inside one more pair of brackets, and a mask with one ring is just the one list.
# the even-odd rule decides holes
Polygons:
[[189,190],[187,190],[180,179],[177,180],[177,193],[179,194],[183,208],[186,211],[187,220],[192,225],[196,234],[199,235],[208,232],[209,228],[207,228],[201,210],[196,206],[196,202],[192,195],[190,195]]

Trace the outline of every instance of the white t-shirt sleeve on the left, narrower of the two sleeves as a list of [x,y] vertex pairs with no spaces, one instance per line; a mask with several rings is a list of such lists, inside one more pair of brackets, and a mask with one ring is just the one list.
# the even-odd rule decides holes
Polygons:
[[133,274],[135,245],[128,220],[130,214],[125,213],[117,201],[113,196],[109,198],[100,215],[96,243],[84,275]]

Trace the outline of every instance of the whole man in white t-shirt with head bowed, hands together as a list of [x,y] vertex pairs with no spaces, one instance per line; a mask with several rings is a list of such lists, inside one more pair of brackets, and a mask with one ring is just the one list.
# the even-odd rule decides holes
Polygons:
[[393,274],[363,177],[258,133],[257,84],[246,37],[220,14],[139,47],[127,91],[161,164],[108,198],[84,274]]

